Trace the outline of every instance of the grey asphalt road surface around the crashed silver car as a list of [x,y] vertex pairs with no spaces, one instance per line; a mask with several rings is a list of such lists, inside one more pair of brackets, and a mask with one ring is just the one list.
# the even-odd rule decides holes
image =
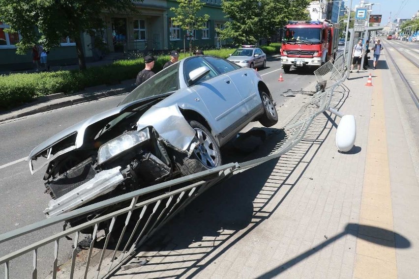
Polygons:
[[[277,106],[286,105],[287,98],[292,98],[281,96],[288,89],[299,90],[310,86],[309,88],[314,90],[316,82],[312,71],[291,70],[290,73],[284,74],[280,68],[279,60],[279,56],[269,58],[267,68],[259,71],[268,85],[274,101],[277,102]],[[282,73],[283,82],[278,81],[280,73]],[[49,195],[44,194],[45,187],[42,177],[45,169],[30,175],[28,163],[24,161],[30,151],[61,130],[91,115],[115,107],[123,97],[123,95],[108,97],[0,123],[0,233],[45,219],[43,210],[50,199]],[[279,117],[286,116],[279,115]],[[33,233],[30,239],[23,238],[19,239],[19,242],[9,241],[0,244],[1,255],[61,230],[62,224],[59,224]],[[70,257],[71,245],[71,241],[60,242],[60,250],[67,251],[67,254],[60,252],[63,258]],[[43,269],[43,267],[50,264],[48,261],[51,260],[51,251],[53,250],[38,251],[38,275],[40,277],[49,271],[48,268]],[[30,262],[30,255],[28,255],[27,263],[29,265],[11,264],[11,272],[16,275],[16,270],[19,269],[19,274],[25,274],[22,278],[26,278],[30,274]],[[3,274],[3,267],[0,267],[0,274]]]

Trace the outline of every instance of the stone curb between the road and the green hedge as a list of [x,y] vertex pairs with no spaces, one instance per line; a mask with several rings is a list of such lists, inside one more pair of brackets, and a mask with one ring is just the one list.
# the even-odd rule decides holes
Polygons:
[[68,107],[68,106],[72,106],[72,105],[77,105],[77,104],[81,104],[81,103],[86,103],[86,102],[90,102],[90,101],[94,101],[94,100],[99,100],[101,98],[105,98],[105,97],[111,97],[111,96],[115,96],[115,95],[120,95],[123,93],[129,93],[131,92],[136,86],[135,85],[130,85],[127,86],[125,88],[118,88],[118,89],[111,89],[108,91],[104,91],[104,92],[97,92],[97,93],[92,93],[90,95],[86,95],[86,94],[71,94],[71,95],[65,95],[64,93],[56,93],[56,94],[51,94],[48,96],[42,96],[37,98],[37,101],[39,102],[48,102],[51,100],[56,100],[56,99],[64,99],[64,98],[71,98],[70,100],[62,100],[59,101],[58,103],[53,103],[53,104],[44,104],[41,107],[38,108],[32,108],[32,109],[22,109],[25,111],[22,112],[11,112],[11,115],[5,115],[4,117],[0,116],[0,123],[4,122],[4,121],[8,121],[8,120],[13,120],[16,118],[20,118],[20,117],[24,117],[24,116],[28,116],[28,115],[32,115],[35,113],[39,113],[39,112],[48,112],[48,111],[52,111],[55,109],[60,109],[60,108],[64,108],[64,107]]

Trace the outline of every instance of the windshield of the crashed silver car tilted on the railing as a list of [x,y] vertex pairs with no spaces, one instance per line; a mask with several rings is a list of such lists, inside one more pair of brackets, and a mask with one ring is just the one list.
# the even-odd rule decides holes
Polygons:
[[179,89],[179,63],[167,67],[132,90],[120,105]]

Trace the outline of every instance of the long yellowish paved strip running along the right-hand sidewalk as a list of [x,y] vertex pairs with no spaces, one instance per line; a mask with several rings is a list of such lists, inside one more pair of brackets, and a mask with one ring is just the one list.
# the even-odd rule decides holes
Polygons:
[[[378,70],[380,71],[380,70]],[[380,72],[378,72],[380,73]],[[375,78],[359,210],[354,278],[397,278],[394,234],[377,235],[377,227],[393,231],[393,210],[381,75]],[[359,236],[360,235],[360,236]]]

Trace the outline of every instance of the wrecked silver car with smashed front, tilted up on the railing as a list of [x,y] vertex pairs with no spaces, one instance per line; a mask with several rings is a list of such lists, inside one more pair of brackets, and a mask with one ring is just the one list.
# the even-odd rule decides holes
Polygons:
[[[251,121],[278,121],[261,76],[223,58],[192,56],[158,72],[118,107],[42,142],[30,152],[30,172],[47,166],[52,199],[44,213],[56,216],[220,166],[219,147]],[[92,217],[77,223],[86,218]]]

